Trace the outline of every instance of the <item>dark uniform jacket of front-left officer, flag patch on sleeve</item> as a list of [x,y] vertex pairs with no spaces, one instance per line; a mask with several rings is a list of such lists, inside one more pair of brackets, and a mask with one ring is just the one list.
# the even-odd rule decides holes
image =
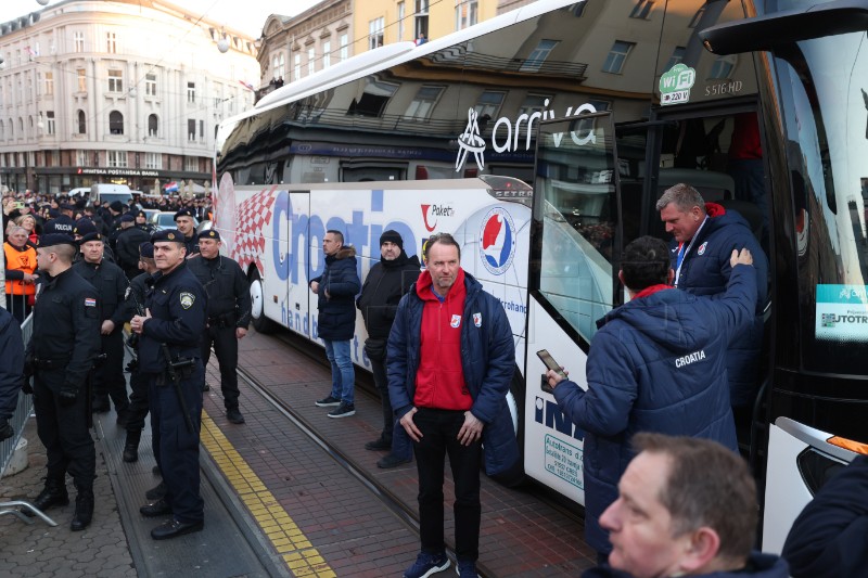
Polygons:
[[46,384],[52,390],[60,390],[63,383],[80,388],[101,348],[97,290],[72,267],[56,277],[43,277],[25,359],[34,360],[40,372],[48,369],[44,361],[51,362],[48,371],[56,378],[46,378]]

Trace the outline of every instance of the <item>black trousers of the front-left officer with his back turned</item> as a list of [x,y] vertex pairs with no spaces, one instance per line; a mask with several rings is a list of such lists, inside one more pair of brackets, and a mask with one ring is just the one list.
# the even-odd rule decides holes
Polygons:
[[65,378],[64,370],[39,370],[34,375],[36,433],[46,447],[48,479],[65,484],[66,473],[76,487],[91,487],[97,477],[97,452],[88,429],[87,391],[78,391],[75,403],[62,407],[55,391]]

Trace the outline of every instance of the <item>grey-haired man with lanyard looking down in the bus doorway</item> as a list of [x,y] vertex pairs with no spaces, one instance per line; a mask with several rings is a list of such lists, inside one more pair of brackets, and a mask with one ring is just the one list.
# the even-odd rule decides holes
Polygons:
[[732,272],[729,255],[746,248],[753,256],[758,298],[751,324],[738,334],[727,351],[729,396],[736,421],[750,421],[756,398],[760,355],[763,349],[763,309],[767,297],[768,260],[748,221],[735,210],[705,203],[688,184],[667,189],[656,203],[666,232],[673,235],[669,258],[674,285],[693,295],[719,298]]

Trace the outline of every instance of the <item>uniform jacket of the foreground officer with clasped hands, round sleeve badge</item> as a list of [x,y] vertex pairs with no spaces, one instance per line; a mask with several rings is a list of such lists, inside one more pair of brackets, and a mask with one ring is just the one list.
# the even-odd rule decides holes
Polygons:
[[208,307],[205,288],[190,272],[186,261],[168,274],[152,275],[154,285],[145,307],[151,310],[139,339],[139,368],[142,373],[163,373],[168,360],[162,351],[166,344],[174,358],[199,358],[200,341],[205,331]]

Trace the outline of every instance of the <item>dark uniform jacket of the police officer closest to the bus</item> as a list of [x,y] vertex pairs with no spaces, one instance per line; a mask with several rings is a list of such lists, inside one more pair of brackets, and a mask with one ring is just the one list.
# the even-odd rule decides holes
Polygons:
[[239,265],[218,255],[206,259],[200,255],[187,261],[190,271],[208,294],[209,323],[247,329],[251,322],[251,292],[247,278]]

